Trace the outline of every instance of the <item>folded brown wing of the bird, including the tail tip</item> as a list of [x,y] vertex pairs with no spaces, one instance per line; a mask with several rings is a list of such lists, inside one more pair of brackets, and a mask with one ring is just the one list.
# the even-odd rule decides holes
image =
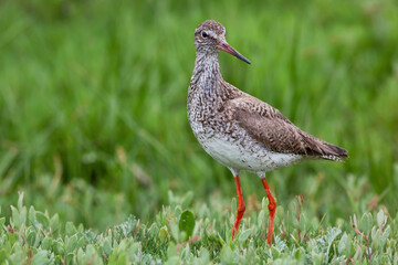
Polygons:
[[271,151],[338,161],[342,161],[339,158],[347,157],[347,151],[343,148],[301,130],[277,109],[260,99],[243,96],[230,103],[234,106],[235,121]]

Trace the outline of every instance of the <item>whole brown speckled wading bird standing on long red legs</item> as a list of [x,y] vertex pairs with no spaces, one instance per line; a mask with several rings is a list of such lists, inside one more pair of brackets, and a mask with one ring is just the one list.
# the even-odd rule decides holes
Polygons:
[[195,30],[196,61],[188,87],[187,115],[201,147],[227,167],[235,182],[238,209],[232,226],[234,239],[245,204],[240,171],[260,177],[269,200],[268,244],[272,245],[276,201],[265,173],[303,160],[344,161],[347,151],[296,127],[280,110],[227,83],[219,65],[224,51],[251,64],[226,41],[226,28],[213,20]]

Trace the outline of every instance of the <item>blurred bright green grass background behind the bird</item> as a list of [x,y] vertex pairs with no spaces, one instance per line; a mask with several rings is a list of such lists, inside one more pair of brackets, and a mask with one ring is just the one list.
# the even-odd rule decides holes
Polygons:
[[[186,115],[193,31],[208,19],[252,62],[220,54],[224,80],[349,151],[345,163],[269,173],[277,203],[303,194],[332,222],[375,203],[396,212],[395,0],[1,1],[3,211],[18,190],[27,204],[94,230],[129,213],[154,218],[169,190],[228,206],[232,176]],[[265,195],[256,176],[241,181],[247,200]]]

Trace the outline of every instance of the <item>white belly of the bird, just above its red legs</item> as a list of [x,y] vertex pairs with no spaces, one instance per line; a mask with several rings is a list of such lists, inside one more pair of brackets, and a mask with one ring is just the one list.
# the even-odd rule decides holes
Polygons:
[[243,147],[239,141],[231,142],[216,137],[201,139],[199,142],[223,166],[255,173],[272,171],[303,159],[298,155],[269,151],[261,145],[253,144]]

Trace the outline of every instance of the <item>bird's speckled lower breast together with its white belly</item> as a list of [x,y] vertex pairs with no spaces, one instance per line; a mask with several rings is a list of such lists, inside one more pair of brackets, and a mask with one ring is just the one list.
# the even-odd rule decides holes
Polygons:
[[226,120],[220,124],[217,115],[207,117],[205,121],[197,117],[200,116],[196,116],[195,112],[189,114],[189,121],[199,144],[213,159],[230,169],[268,172],[302,159],[302,156],[265,149],[238,125]]

